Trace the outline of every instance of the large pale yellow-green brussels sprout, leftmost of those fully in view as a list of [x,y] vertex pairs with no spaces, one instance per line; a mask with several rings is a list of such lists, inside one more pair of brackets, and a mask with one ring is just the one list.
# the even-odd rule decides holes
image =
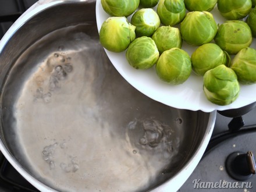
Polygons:
[[126,17],[109,17],[99,30],[101,45],[112,52],[122,52],[136,38],[135,26]]

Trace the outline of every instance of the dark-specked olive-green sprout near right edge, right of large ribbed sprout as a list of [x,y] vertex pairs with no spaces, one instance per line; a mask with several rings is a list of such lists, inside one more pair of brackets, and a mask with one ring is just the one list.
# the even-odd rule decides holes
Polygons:
[[214,41],[222,50],[235,55],[241,49],[250,47],[253,37],[246,22],[229,20],[219,26]]

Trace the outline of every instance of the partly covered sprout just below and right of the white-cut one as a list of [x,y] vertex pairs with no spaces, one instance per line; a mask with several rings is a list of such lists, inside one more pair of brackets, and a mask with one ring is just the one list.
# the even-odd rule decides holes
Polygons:
[[182,48],[182,37],[180,30],[176,27],[161,26],[151,38],[155,41],[160,54],[174,47]]

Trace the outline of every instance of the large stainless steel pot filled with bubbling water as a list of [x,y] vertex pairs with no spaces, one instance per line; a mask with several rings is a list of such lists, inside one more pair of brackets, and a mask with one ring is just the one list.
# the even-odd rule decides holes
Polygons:
[[0,149],[40,191],[177,191],[211,137],[216,112],[163,105],[120,76],[95,1],[35,3],[0,66]]

